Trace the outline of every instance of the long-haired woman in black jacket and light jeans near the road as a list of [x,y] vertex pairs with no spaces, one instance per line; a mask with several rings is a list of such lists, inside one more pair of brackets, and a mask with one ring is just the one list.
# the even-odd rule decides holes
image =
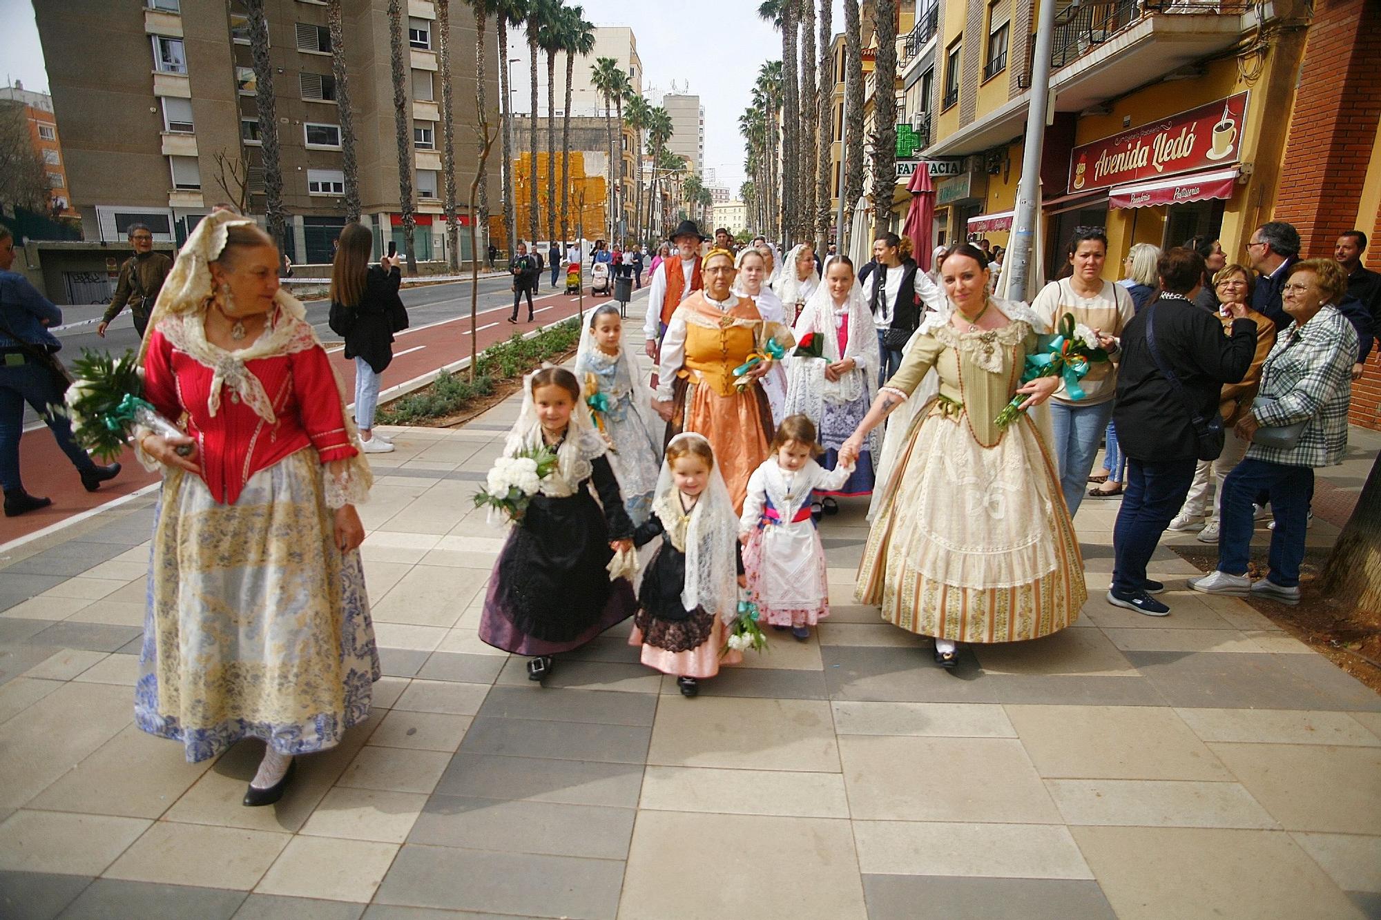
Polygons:
[[374,235],[363,224],[341,229],[331,265],[331,332],[345,340],[355,359],[355,424],[365,453],[388,453],[394,442],[374,434],[374,409],[384,369],[394,359],[394,333],[407,329],[407,309],[398,289],[403,283],[399,257],[370,265]]

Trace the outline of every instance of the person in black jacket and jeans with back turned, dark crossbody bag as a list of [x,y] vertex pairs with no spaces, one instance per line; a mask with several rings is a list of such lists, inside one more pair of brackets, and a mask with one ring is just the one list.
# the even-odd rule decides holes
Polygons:
[[[1161,294],[1123,330],[1113,423],[1127,454],[1127,483],[1113,529],[1113,582],[1108,601],[1148,616],[1170,608],[1152,597],[1164,586],[1146,577],[1160,533],[1174,519],[1195,478],[1199,443],[1190,416],[1218,419],[1222,384],[1240,381],[1257,351],[1257,323],[1233,307],[1229,336],[1195,305],[1204,260],[1190,249],[1160,257]],[[1155,351],[1148,341],[1153,333]],[[1177,388],[1166,367],[1179,387]]]

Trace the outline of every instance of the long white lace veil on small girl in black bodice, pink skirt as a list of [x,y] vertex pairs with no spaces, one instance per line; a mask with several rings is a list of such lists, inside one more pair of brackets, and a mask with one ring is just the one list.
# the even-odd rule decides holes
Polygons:
[[[670,452],[677,443],[684,441],[702,441],[708,443],[704,435],[688,431],[671,439],[667,445]],[[661,519],[667,533],[673,532],[674,522],[684,517],[681,510],[681,493],[671,478],[671,464],[661,461],[661,474],[657,477],[657,497],[652,500],[653,512]],[[733,500],[729,489],[724,485],[720,474],[720,464],[715,461],[706,479],[700,499],[690,510],[690,521],[685,530],[686,555],[685,583],[681,587],[681,605],[693,611],[697,606],[706,613],[718,616],[725,624],[732,623],[739,613],[739,583],[737,564],[735,562],[735,543],[739,535],[739,515],[733,512]]]

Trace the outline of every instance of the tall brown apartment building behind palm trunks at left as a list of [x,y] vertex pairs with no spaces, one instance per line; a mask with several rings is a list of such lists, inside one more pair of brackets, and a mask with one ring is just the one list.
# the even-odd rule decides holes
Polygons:
[[[345,68],[354,113],[360,203],[383,246],[402,249],[387,0],[344,4]],[[117,242],[131,222],[181,242],[244,175],[249,210],[264,211],[264,171],[249,23],[242,0],[64,0],[35,4],[68,178],[83,233]],[[273,97],[282,146],[286,240],[296,262],[326,262],[345,222],[341,128],[323,0],[267,0]],[[453,6],[452,93],[456,171],[471,175],[474,19]],[[431,0],[407,0],[407,109],[420,260],[443,258],[438,35]],[[497,108],[497,54],[485,95]],[[490,202],[499,210],[499,163]],[[224,184],[222,184],[224,178]],[[226,188],[228,186],[228,188]],[[464,210],[464,207],[461,209]],[[468,222],[470,215],[463,217]],[[468,239],[463,235],[461,257]]]

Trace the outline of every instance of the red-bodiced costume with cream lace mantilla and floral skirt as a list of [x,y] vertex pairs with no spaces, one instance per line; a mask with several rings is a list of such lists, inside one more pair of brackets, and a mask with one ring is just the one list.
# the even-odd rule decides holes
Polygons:
[[333,747],[380,677],[359,553],[334,542],[334,508],[367,499],[369,464],[302,305],[279,290],[239,351],[206,338],[209,262],[236,222],[250,221],[196,227],[144,343],[145,398],[185,419],[202,475],[163,468],[135,722],[189,761],[242,738],[284,756]]

